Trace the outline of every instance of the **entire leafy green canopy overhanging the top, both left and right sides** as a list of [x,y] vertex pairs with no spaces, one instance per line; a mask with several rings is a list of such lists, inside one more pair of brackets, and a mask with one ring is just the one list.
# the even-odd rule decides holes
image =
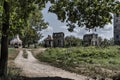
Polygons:
[[[67,22],[68,30],[75,26],[85,26],[92,29],[103,27],[111,22],[111,13],[120,14],[120,2],[117,0],[7,0],[10,4],[10,32],[24,32],[24,26],[29,26],[28,19],[36,9],[42,10],[50,1],[49,11],[58,16],[58,20]],[[0,1],[0,16],[4,0]],[[1,17],[0,17],[1,18]]]

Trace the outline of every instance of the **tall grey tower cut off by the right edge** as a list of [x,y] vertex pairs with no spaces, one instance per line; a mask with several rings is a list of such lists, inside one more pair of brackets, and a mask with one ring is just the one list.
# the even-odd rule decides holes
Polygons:
[[120,45],[120,17],[114,15],[114,44]]

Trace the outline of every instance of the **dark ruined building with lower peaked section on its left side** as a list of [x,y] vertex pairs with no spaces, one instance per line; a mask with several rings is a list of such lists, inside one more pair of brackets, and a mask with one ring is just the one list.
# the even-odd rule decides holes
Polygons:
[[45,47],[64,47],[64,33],[53,33],[52,37],[48,37],[44,40]]

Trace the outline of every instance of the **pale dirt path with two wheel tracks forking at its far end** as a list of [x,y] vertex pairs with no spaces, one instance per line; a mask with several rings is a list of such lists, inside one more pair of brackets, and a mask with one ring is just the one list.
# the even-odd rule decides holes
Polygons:
[[62,78],[66,78],[64,80],[67,80],[67,78],[70,80],[86,80],[87,78],[85,76],[70,73],[60,68],[39,62],[28,50],[26,50],[26,53],[28,54],[28,57],[24,58],[23,51],[21,50],[15,59],[15,64],[17,67],[22,69],[22,74],[27,77],[60,77],[60,80],[63,80]]

